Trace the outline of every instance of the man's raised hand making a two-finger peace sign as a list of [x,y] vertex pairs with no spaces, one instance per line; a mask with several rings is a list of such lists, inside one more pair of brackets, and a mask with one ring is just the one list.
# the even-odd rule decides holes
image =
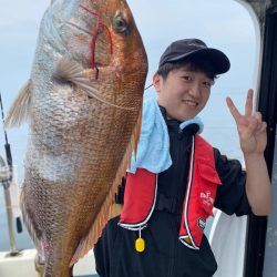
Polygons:
[[240,114],[230,98],[226,99],[229,111],[236,122],[240,148],[244,154],[263,154],[267,144],[266,123],[259,112],[253,112],[253,90],[248,90],[245,114]]

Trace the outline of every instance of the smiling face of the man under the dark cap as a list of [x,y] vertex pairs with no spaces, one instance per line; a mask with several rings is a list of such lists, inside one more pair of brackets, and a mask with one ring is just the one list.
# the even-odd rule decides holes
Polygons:
[[196,116],[206,105],[214,81],[203,72],[176,69],[164,80],[153,76],[157,103],[166,109],[170,119],[185,121]]

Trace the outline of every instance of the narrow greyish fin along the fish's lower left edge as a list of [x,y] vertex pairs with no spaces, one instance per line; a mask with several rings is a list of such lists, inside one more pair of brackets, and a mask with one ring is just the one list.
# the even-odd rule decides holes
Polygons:
[[40,257],[41,263],[43,263],[44,261],[44,254],[43,254],[42,245],[41,245],[42,242],[38,237],[35,226],[34,226],[33,220],[28,212],[25,203],[27,202],[25,202],[25,197],[24,197],[24,189],[22,189],[21,194],[20,194],[20,204],[21,204],[20,207],[21,207],[24,225],[29,232],[29,235],[31,236],[31,238],[34,243],[34,246],[38,250],[38,256]]

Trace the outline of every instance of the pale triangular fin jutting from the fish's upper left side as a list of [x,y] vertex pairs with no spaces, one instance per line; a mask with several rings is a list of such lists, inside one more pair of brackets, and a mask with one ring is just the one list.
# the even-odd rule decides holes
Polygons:
[[22,86],[17,99],[11,105],[6,119],[4,127],[19,127],[24,121],[29,119],[29,111],[31,105],[31,80]]

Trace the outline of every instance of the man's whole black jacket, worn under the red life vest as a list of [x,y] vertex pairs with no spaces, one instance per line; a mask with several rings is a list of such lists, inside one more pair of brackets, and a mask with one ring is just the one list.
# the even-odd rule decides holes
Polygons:
[[[96,270],[101,277],[209,277],[217,268],[205,236],[199,250],[189,249],[178,242],[192,136],[198,126],[192,124],[181,132],[179,122],[167,120],[165,110],[161,107],[161,111],[168,127],[173,164],[158,174],[156,208],[147,227],[142,230],[145,250],[135,250],[138,232],[124,229],[117,226],[119,217],[112,218],[94,247]],[[220,155],[216,148],[214,154],[223,183],[217,188],[215,207],[229,215],[249,214],[246,175],[240,163]],[[173,209],[172,202],[176,204]]]

